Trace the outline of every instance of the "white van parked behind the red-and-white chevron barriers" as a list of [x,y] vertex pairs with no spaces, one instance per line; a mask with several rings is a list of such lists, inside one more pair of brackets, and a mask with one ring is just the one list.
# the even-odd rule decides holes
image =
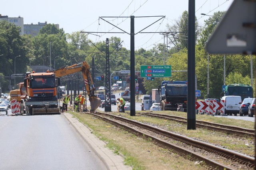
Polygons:
[[232,116],[234,113],[236,116],[239,113],[242,103],[241,96],[223,96],[221,100],[224,100],[224,114]]

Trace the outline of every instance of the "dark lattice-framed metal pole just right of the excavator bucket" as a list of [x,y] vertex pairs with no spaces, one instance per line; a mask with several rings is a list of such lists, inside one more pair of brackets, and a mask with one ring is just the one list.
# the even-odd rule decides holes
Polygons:
[[105,111],[111,111],[109,41],[106,39]]

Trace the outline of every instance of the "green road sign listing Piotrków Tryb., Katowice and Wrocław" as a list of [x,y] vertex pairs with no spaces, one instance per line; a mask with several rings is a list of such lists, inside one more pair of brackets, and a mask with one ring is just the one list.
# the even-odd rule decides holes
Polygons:
[[140,66],[141,77],[171,77],[172,70],[170,65],[164,66]]

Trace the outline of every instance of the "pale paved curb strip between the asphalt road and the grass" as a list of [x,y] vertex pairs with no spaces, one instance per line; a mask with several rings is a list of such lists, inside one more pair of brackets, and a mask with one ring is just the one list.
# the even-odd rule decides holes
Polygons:
[[68,119],[70,124],[76,129],[78,134],[84,139],[94,153],[100,158],[103,164],[108,170],[132,170],[132,167],[124,165],[124,159],[120,155],[116,155],[106,148],[106,143],[100,141],[95,135],[92,134],[92,130],[86,125],[81,123],[70,113],[62,113]]

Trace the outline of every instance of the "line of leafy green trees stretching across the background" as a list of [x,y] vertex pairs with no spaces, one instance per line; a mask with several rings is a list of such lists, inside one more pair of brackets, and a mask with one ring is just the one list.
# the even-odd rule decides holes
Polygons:
[[[208,57],[205,45],[208,36],[212,34],[225,12],[216,12],[214,16],[198,25],[196,21],[196,79],[197,89],[201,90],[202,98],[207,95],[207,65]],[[135,71],[140,71],[141,65],[171,65],[172,70],[187,70],[188,66],[188,12],[184,11],[174,24],[166,25],[166,31],[179,31],[183,33],[168,35],[168,56],[164,58],[164,44],[155,44],[152,49],[143,48],[135,51]],[[130,70],[130,49],[122,47],[120,37],[109,39],[110,74],[114,71]],[[63,29],[57,29],[54,24],[47,24],[40,29],[38,35],[20,35],[20,27],[7,21],[0,21],[0,83],[3,92],[9,92],[14,86],[11,75],[24,74],[32,71],[31,65],[50,65],[54,70],[63,66],[86,61],[92,67],[95,63],[95,76],[105,75],[106,42],[94,43],[88,39],[87,34],[79,31],[71,34]],[[166,49],[166,48],[165,48]],[[104,53],[99,53],[104,52]],[[116,53],[123,52],[123,53]],[[166,52],[165,52],[166,53]],[[20,56],[20,57],[17,57]],[[253,56],[253,70],[255,70],[256,57]],[[114,76],[117,76],[115,74]],[[255,75],[253,76],[255,80]],[[129,82],[129,75],[123,76]],[[155,78],[154,81],[141,78],[138,74],[139,89],[143,94],[151,94],[151,89],[158,88],[163,80],[186,81],[187,72],[172,72],[172,77]],[[22,82],[22,77],[16,77],[16,84]],[[113,80],[112,80],[112,83]],[[226,55],[226,84],[251,84],[250,56]],[[11,86],[10,86],[11,84]],[[96,86],[104,86],[104,82],[94,82]],[[210,98],[220,98],[224,84],[224,55],[209,56],[209,95]],[[10,89],[11,87],[11,89]],[[17,87],[17,86],[16,86]]]

